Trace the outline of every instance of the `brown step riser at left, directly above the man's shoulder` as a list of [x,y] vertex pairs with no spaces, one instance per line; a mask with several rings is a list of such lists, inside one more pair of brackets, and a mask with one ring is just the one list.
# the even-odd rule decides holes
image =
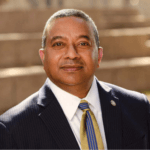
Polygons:
[[0,114],[38,91],[45,80],[45,74],[0,78]]

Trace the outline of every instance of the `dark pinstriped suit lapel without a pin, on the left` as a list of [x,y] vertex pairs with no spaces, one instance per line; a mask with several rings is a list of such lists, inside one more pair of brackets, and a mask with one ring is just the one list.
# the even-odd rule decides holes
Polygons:
[[60,149],[79,149],[64,112],[46,82],[39,91],[38,104],[45,107],[39,114]]

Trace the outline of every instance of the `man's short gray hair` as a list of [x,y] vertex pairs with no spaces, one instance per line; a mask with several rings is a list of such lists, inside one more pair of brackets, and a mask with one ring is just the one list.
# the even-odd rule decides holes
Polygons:
[[60,11],[57,11],[56,13],[54,13],[46,22],[46,25],[44,27],[43,30],[43,36],[42,36],[42,48],[44,49],[46,46],[46,38],[47,38],[47,27],[48,25],[55,19],[57,18],[63,18],[63,17],[79,17],[84,19],[85,21],[91,23],[92,27],[93,27],[93,32],[94,32],[94,37],[95,37],[95,42],[97,47],[99,47],[99,34],[98,34],[98,30],[97,27],[94,23],[94,21],[83,11],[81,10],[76,10],[76,9],[62,9]]

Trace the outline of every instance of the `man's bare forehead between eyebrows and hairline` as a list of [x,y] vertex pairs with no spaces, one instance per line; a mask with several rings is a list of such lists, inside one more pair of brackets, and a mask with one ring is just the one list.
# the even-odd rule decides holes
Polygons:
[[90,22],[79,17],[63,17],[51,21],[47,27],[47,36],[93,36],[93,28]]

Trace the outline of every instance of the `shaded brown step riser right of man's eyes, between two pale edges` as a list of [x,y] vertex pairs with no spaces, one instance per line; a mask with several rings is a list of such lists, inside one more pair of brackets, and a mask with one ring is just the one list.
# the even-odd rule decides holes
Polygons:
[[100,45],[104,49],[104,60],[150,56],[145,43],[148,35],[101,36]]

